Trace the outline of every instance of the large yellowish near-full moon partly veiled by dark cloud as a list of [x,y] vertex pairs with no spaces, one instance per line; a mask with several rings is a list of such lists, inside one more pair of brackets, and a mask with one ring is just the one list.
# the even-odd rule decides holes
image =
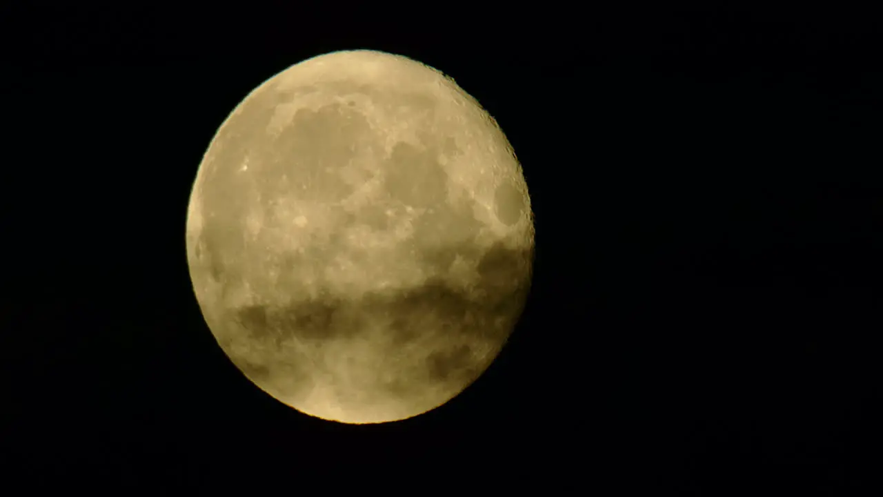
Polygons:
[[498,356],[532,279],[525,176],[496,121],[411,58],[291,65],[223,121],[186,222],[218,345],[312,417],[435,409]]

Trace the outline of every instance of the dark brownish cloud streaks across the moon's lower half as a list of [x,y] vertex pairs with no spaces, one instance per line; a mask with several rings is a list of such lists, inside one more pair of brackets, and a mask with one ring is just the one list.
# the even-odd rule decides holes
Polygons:
[[[476,289],[456,287],[434,278],[421,287],[378,291],[355,301],[326,294],[319,299],[293,301],[283,307],[251,306],[232,312],[234,320],[249,331],[249,340],[275,349],[288,337],[317,345],[351,340],[366,331],[367,323],[392,317],[388,333],[393,335],[394,348],[418,342],[426,344],[418,348],[414,356],[404,358],[405,363],[425,371],[424,376],[430,381],[459,390],[487,367],[487,354],[480,351],[502,345],[515,325],[527,295],[530,257],[530,251],[494,245],[480,256],[481,279]],[[389,356],[395,352],[386,351]],[[261,363],[260,357],[237,357],[231,350],[227,353],[250,378],[262,378],[260,375],[266,371],[275,374],[275,371],[293,368],[285,374],[305,378],[303,387],[308,388],[312,383],[307,379],[317,372],[315,363],[305,362],[306,358],[301,363],[294,362],[293,358],[275,363],[281,360],[267,356]],[[427,386],[403,374],[402,378],[379,384],[381,392],[369,394],[405,401],[423,394]],[[296,397],[304,392],[280,394]]]

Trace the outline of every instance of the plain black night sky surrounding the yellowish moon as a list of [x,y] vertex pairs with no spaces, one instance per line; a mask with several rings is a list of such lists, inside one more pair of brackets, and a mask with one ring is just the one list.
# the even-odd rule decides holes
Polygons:
[[[883,440],[870,12],[28,5],[0,8],[7,474],[120,491],[868,491]],[[493,366],[439,409],[371,426],[245,379],[202,320],[184,241],[233,107],[356,48],[433,65],[494,115],[537,230],[532,294]]]

